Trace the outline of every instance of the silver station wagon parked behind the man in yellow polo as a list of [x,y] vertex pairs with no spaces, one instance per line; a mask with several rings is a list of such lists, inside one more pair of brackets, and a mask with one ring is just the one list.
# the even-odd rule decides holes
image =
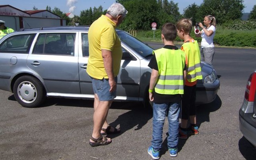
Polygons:
[[[88,29],[85,26],[25,28],[0,40],[0,89],[12,92],[24,107],[40,106],[47,97],[93,99],[86,73]],[[117,30],[122,60],[115,101],[148,102],[153,49]],[[202,81],[196,104],[212,102],[220,82],[213,67],[201,62]]]

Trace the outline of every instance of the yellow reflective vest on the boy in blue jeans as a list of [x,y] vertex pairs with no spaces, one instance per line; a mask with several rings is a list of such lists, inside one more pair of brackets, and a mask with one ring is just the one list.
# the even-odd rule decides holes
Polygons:
[[185,53],[182,50],[161,48],[153,51],[158,66],[155,92],[159,94],[184,94]]

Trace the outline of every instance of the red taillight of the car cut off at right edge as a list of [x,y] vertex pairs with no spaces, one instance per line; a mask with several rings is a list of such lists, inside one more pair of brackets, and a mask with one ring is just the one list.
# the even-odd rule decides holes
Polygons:
[[256,89],[256,73],[252,73],[247,81],[245,89],[245,99],[247,101],[253,102]]

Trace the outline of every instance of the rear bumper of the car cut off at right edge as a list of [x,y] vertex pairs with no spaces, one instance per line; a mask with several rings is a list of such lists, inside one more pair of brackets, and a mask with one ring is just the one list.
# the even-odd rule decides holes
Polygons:
[[256,147],[256,119],[253,118],[253,113],[244,113],[243,110],[239,110],[239,129]]

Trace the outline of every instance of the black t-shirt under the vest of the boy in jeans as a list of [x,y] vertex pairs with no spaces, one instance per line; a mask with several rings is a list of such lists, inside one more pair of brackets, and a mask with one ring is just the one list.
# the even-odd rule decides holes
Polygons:
[[[173,50],[179,49],[176,46],[172,46],[172,45],[165,45],[163,48],[173,49]],[[155,54],[152,56],[148,66],[150,68],[158,71]],[[186,70],[186,65],[184,65],[184,70]],[[159,93],[156,93],[154,90],[153,96],[154,96],[154,103],[169,103],[169,102],[180,102],[181,101],[181,94],[159,94]]]

